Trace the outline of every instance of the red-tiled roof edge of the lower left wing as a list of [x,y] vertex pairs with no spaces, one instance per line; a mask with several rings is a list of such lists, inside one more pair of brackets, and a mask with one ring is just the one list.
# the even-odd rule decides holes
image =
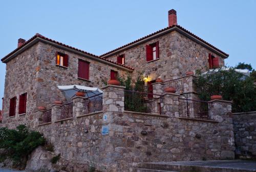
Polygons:
[[85,54],[87,54],[87,55],[100,58],[100,59],[102,59],[102,60],[104,60],[104,61],[108,61],[108,62],[114,63],[115,65],[118,65],[118,66],[121,66],[121,67],[130,69],[130,70],[134,70],[134,68],[132,68],[132,67],[129,67],[129,66],[126,66],[126,65],[121,65],[121,64],[119,64],[119,63],[117,63],[117,62],[115,62],[115,61],[112,61],[112,60],[109,60],[109,59],[105,59],[105,58],[101,58],[101,57],[99,57],[99,56],[97,56],[97,55],[94,55],[94,54],[92,54],[92,53],[88,53],[88,52],[86,52],[86,51],[79,50],[79,49],[77,49],[77,48],[74,48],[74,47],[71,47],[71,46],[62,44],[61,42],[58,42],[58,41],[56,41],[56,40],[53,40],[53,39],[50,39],[50,38],[48,38],[48,37],[42,36],[42,35],[39,34],[39,33],[36,33],[33,37],[31,37],[29,40],[27,40],[24,45],[22,45],[22,46],[16,48],[15,50],[13,50],[13,51],[10,52],[9,54],[7,54],[4,58],[1,59],[1,61],[4,61],[4,60],[7,59],[11,54],[13,54],[13,53],[17,52],[18,50],[22,49],[24,46],[26,46],[29,42],[31,42],[32,40],[34,40],[36,37],[40,37],[40,38],[42,38],[42,39],[46,39],[46,40],[52,41],[52,42],[54,42],[54,43],[56,43],[56,44],[58,44],[58,45],[65,46],[65,47],[68,47],[68,48],[70,48],[70,49],[73,49],[73,50],[76,50],[76,51],[85,53]]

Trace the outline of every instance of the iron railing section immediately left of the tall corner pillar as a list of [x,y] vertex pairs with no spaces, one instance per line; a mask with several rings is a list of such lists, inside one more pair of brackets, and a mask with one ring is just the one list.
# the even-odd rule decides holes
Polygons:
[[102,111],[102,94],[89,97],[84,106],[86,114]]

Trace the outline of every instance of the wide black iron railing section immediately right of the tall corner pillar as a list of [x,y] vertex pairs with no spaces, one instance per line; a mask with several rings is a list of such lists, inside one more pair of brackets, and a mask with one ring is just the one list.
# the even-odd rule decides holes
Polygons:
[[124,110],[142,113],[161,114],[162,95],[124,91]]

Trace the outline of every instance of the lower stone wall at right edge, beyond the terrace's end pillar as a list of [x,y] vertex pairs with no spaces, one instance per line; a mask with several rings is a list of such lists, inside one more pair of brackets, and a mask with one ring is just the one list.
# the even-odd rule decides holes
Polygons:
[[256,112],[234,113],[232,118],[237,154],[256,156]]

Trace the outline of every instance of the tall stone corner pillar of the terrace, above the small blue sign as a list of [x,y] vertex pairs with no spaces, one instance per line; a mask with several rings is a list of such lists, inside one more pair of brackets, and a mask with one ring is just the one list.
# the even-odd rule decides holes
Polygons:
[[102,87],[103,103],[102,111],[107,116],[104,122],[112,122],[115,115],[122,114],[124,111],[124,88],[117,85],[106,85]]

